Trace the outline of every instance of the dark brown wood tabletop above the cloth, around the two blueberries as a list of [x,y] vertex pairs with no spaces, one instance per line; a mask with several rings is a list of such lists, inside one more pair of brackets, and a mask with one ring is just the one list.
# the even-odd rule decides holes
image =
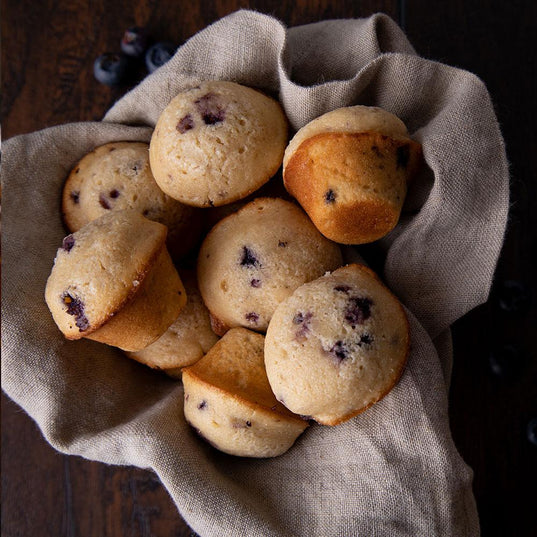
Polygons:
[[274,15],[288,25],[364,17],[376,11],[397,17],[396,2],[390,0],[4,0],[3,4],[4,138],[70,121],[101,119],[128,87],[108,88],[99,84],[93,77],[93,62],[103,52],[117,51],[123,31],[129,26],[146,26],[156,39],[181,44],[240,8]]

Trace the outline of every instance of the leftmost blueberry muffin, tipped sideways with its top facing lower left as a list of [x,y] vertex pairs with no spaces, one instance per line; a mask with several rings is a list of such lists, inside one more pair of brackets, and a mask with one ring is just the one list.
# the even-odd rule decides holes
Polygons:
[[186,303],[165,239],[165,226],[132,210],[111,211],[65,237],[45,289],[65,337],[127,351],[158,339]]

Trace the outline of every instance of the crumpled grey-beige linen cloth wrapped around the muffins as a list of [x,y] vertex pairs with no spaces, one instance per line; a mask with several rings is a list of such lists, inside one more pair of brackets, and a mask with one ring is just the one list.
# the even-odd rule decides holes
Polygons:
[[[381,276],[408,308],[397,386],[337,427],[313,425],[284,455],[217,452],[183,417],[183,388],[56,328],[43,293],[66,234],[62,184],[94,146],[148,141],[180,90],[233,80],[279,95],[293,129],[337,107],[377,105],[423,144]],[[475,536],[472,471],[448,423],[450,325],[487,299],[508,212],[505,149],[485,85],[416,55],[385,15],[285,28],[238,11],[184,44],[104,121],[4,144],[2,387],[57,450],[152,468],[208,536]]]

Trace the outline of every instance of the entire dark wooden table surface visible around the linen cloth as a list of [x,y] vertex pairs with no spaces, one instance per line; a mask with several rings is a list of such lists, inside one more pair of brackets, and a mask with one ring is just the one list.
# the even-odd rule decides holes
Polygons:
[[[101,119],[127,88],[99,84],[93,61],[117,50],[127,27],[146,26],[156,39],[180,44],[238,8],[274,14],[290,26],[383,11],[419,54],[479,75],[505,136],[512,213],[489,302],[453,328],[451,426],[475,472],[482,534],[535,536],[537,446],[527,440],[526,425],[537,416],[536,5],[533,0],[3,0],[2,135]],[[499,307],[496,291],[506,280],[521,282],[532,293],[529,311]],[[491,352],[505,345],[514,346],[520,358],[507,378],[495,375],[489,364]],[[3,537],[191,535],[153,473],[55,452],[4,394],[2,496]]]

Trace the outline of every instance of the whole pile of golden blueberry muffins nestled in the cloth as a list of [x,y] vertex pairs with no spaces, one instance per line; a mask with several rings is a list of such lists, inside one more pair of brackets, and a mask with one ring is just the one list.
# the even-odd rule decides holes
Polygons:
[[204,82],[149,144],[109,143],[73,167],[47,305],[67,339],[180,379],[186,420],[217,449],[280,455],[401,376],[404,310],[340,245],[396,226],[420,161],[380,108],[333,110],[289,141],[275,99]]

